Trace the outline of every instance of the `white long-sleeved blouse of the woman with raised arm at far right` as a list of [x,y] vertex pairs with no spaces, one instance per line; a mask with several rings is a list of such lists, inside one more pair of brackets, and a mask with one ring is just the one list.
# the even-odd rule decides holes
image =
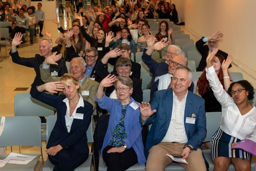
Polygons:
[[214,70],[214,67],[206,68],[206,77],[210,83],[216,99],[222,105],[222,118],[220,128],[226,134],[243,139],[251,139],[256,142],[256,109],[253,108],[241,115],[238,106],[223,89],[223,86]]

